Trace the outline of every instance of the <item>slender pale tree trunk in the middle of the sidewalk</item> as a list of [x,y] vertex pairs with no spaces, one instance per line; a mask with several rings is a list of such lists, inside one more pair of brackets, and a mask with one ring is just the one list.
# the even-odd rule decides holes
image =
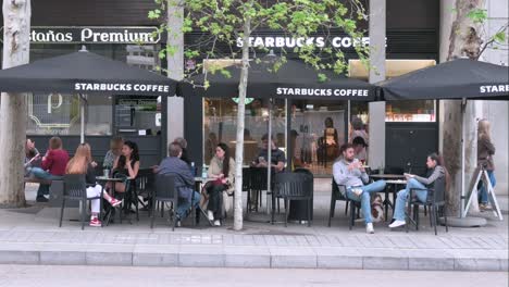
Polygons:
[[235,144],[235,205],[234,229],[243,229],[243,162],[244,162],[244,117],[246,111],[246,92],[249,73],[249,36],[251,35],[251,18],[246,17],[243,35],[243,60],[240,82],[238,83],[237,105],[237,142]]

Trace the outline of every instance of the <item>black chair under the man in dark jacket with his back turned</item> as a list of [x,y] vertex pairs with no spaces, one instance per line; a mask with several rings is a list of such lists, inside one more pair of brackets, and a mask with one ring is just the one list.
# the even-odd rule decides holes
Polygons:
[[175,230],[176,208],[178,204],[178,192],[175,189],[174,175],[156,175],[154,194],[152,196],[151,211],[150,211],[150,228],[153,228],[153,221],[156,219],[156,203],[161,202],[161,217],[164,217],[164,203],[171,202],[172,209],[169,210],[170,221],[172,222],[172,230]]

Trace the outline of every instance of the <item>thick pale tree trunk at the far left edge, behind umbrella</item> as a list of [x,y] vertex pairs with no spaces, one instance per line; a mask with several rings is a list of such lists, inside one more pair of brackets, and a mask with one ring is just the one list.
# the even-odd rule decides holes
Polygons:
[[[29,0],[3,0],[3,68],[28,63],[30,14]],[[2,92],[1,97],[0,207],[23,207],[27,96]]]

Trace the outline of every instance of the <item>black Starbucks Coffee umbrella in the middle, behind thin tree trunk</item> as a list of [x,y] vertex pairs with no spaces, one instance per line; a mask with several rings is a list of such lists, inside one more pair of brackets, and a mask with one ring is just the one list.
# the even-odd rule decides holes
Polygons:
[[[268,58],[268,57],[266,57]],[[178,84],[177,93],[184,97],[236,98],[240,67],[224,68],[231,77],[222,73],[209,73],[207,80],[210,86],[204,89],[204,75],[197,75]],[[288,60],[276,72],[271,61],[252,61],[249,67],[247,97],[269,99],[334,99],[373,101],[375,87],[369,83],[338,76],[331,72],[316,72],[299,61]],[[326,76],[319,79],[319,74]],[[196,85],[196,86],[195,86]],[[198,86],[198,87],[197,87]]]

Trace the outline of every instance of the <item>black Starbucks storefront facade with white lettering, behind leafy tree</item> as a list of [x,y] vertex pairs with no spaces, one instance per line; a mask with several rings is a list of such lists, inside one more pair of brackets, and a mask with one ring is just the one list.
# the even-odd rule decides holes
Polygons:
[[[434,63],[438,59],[438,1],[387,1],[387,40],[386,58],[388,66],[394,70],[412,70]],[[321,43],[320,35],[312,41]],[[200,41],[200,34],[188,34],[186,45]],[[261,30],[253,35],[253,45],[263,43],[275,54],[282,47],[291,51],[295,45],[307,39],[291,39],[281,32]],[[334,30],[331,42],[342,47],[352,70],[356,55],[352,52],[352,40],[340,30]],[[369,42],[369,38],[362,39]],[[297,59],[288,52],[288,59]],[[193,68],[200,60],[185,60],[185,68]],[[214,61],[214,60],[207,60]],[[228,60],[216,59],[218,63]],[[207,66],[207,63],[204,64]],[[401,73],[395,71],[394,75]],[[362,74],[362,73],[361,73]],[[390,73],[388,73],[388,76]],[[365,78],[365,75],[352,75]],[[262,97],[261,97],[262,98]],[[244,163],[248,164],[257,155],[261,137],[268,130],[269,102],[262,99],[246,101]],[[193,161],[201,165],[208,164],[213,153],[213,146],[223,141],[231,148],[235,147],[236,127],[235,95],[225,95],[223,99],[202,99],[189,97],[185,99],[185,137],[193,151]],[[326,147],[327,135],[325,122],[333,120],[337,130],[338,144],[351,140],[357,132],[352,125],[359,121],[368,126],[369,107],[367,102],[338,100],[274,100],[272,102],[272,129],[277,146],[286,152],[288,166],[305,166],[315,175],[331,174],[335,159],[334,151]],[[412,167],[412,172],[425,170],[426,154],[438,149],[438,103],[436,101],[387,102],[385,116],[385,166]],[[369,134],[369,130],[367,130]],[[373,166],[378,167],[378,166]]]

